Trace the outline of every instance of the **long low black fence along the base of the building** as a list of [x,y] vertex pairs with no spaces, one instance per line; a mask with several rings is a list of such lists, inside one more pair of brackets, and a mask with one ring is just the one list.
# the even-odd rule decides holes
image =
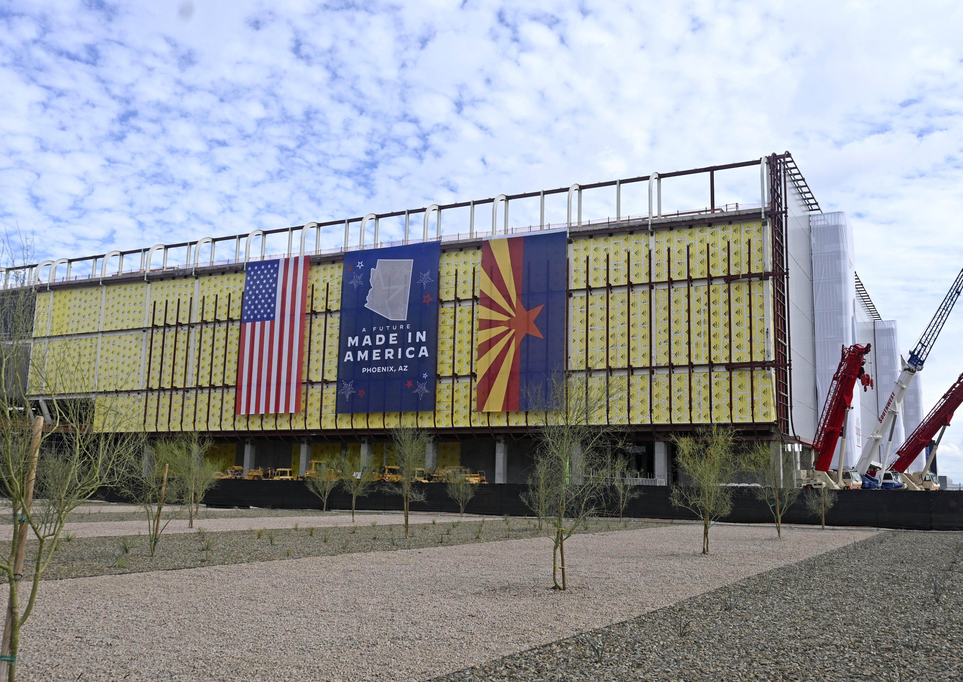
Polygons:
[[[420,486],[426,497],[412,502],[415,512],[458,512],[458,506],[448,497],[445,486]],[[465,508],[467,514],[487,516],[526,516],[531,510],[525,506],[522,493],[528,489],[521,484],[482,484]],[[685,509],[672,506],[667,486],[643,486],[642,494],[629,502],[627,518],[694,519]],[[120,501],[117,498],[117,501]],[[262,507],[269,509],[321,509],[321,498],[311,493],[303,481],[246,481],[221,480],[209,491],[204,502],[211,507]],[[331,493],[328,509],[351,509],[351,495],[341,490]],[[399,511],[402,498],[398,494],[376,491],[358,497],[357,509],[368,511]],[[612,513],[612,510],[608,510]],[[617,511],[615,512],[617,516]],[[721,519],[735,523],[771,523],[768,504],[758,499],[751,490],[734,491],[732,513]],[[818,524],[820,519],[810,515],[802,496],[783,516],[785,523]],[[834,526],[870,526],[907,530],[963,530],[963,492],[909,491],[840,491],[836,504],[826,515],[826,523]]]

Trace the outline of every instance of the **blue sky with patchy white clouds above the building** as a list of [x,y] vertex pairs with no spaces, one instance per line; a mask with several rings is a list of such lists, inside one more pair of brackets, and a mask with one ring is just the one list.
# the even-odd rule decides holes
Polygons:
[[[38,257],[76,256],[788,149],[823,210],[849,215],[857,270],[908,348],[963,265],[961,14],[13,0],[0,6],[0,221],[36,235]],[[756,187],[721,178],[718,201],[758,201]],[[666,181],[666,207],[704,193]],[[645,210],[641,192],[625,203]],[[564,219],[563,202],[549,214]],[[586,195],[586,217],[611,214],[608,194]],[[532,215],[513,206],[511,221]],[[927,408],[963,371],[961,337],[963,309],[924,371]],[[943,467],[963,479],[958,421]]]

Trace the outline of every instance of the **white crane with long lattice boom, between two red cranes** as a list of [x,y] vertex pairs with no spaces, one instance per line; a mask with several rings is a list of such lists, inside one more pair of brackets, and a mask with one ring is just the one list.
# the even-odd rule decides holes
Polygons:
[[[950,312],[961,292],[963,292],[963,269],[956,275],[956,279],[950,287],[950,290],[947,291],[947,295],[944,296],[943,302],[940,304],[940,307],[936,309],[936,314],[929,320],[929,324],[926,325],[920,341],[917,341],[916,346],[910,351],[909,359],[903,363],[902,370],[899,372],[897,381],[893,385],[893,392],[890,394],[890,399],[886,401],[883,414],[879,416],[879,425],[876,427],[876,430],[872,432],[872,436],[867,439],[866,444],[863,445],[863,452],[860,455],[859,461],[856,463],[856,470],[859,471],[860,474],[876,478],[877,481],[882,481],[885,478],[888,470],[885,463],[890,457],[890,447],[893,445],[893,432],[896,429],[897,417],[902,410],[903,396],[906,395],[906,390],[909,388],[917,372],[923,370],[926,356],[929,355],[929,351],[932,350],[937,337],[940,336],[943,325],[946,323],[947,317],[950,316]],[[880,453],[886,434],[889,434],[889,440],[886,443],[885,450]],[[873,473],[876,471],[882,471],[883,478],[874,476]]]

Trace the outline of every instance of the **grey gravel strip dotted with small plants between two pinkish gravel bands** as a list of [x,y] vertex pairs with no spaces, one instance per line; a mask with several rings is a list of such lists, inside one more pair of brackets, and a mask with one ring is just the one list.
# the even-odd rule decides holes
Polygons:
[[[252,529],[249,519],[225,519],[240,521],[244,531],[192,532],[161,536],[157,553],[151,557],[145,535],[110,537],[94,534],[87,538],[79,535],[62,543],[56,556],[44,573],[45,580],[79,578],[91,575],[115,573],[138,573],[149,570],[172,568],[195,568],[227,564],[248,564],[258,561],[301,559],[303,557],[334,556],[354,552],[420,549],[451,544],[488,543],[508,538],[533,538],[538,535],[534,520],[526,518],[503,519],[465,518],[463,521],[437,522],[433,518],[421,518],[422,522],[410,526],[410,536],[404,538],[400,525],[402,515],[389,517],[387,522],[380,515],[358,518],[348,524],[316,528],[301,526],[297,530],[272,530],[270,522],[276,518],[256,519]],[[451,516],[446,518],[451,519]],[[297,520],[297,518],[295,518]],[[323,519],[325,520],[325,519]],[[125,523],[125,522],[124,522]],[[374,525],[373,525],[374,524]],[[123,523],[98,523],[91,525],[123,525]],[[145,530],[142,524],[141,530]],[[594,521],[587,532],[606,532],[624,528],[638,528],[638,523],[617,521]],[[267,526],[267,527],[266,527]],[[206,550],[206,551],[205,551]],[[27,549],[30,556],[30,548]],[[28,562],[26,577],[32,575]],[[5,578],[0,582],[6,582]]]

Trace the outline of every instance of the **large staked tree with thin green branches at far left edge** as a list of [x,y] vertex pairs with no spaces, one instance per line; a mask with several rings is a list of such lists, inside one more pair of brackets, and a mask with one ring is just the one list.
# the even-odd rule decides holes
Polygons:
[[[10,244],[0,245],[5,265]],[[13,260],[29,250],[24,244]],[[142,435],[108,401],[61,397],[90,381],[89,367],[76,353],[32,343],[37,292],[25,273],[10,271],[9,289],[0,291],[0,496],[13,526],[0,556],[8,582],[0,665],[8,680],[68,515],[102,488],[118,487],[143,450]],[[23,585],[30,590],[25,605]]]

